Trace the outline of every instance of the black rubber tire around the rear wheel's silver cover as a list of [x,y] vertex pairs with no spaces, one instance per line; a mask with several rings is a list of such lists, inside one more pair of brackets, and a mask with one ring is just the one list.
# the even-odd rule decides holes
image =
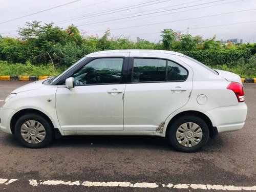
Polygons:
[[[199,141],[195,146],[183,146],[177,140],[176,132],[177,132],[179,126],[182,125],[183,123],[187,123],[187,122],[196,123],[197,125],[199,125],[199,128],[201,128],[202,138],[201,138],[201,141]],[[200,117],[197,117],[197,116],[191,115],[191,116],[180,117],[180,118],[176,119],[172,124],[170,124],[170,127],[168,127],[168,128],[169,129],[167,132],[167,134],[168,134],[167,138],[168,138],[170,144],[172,144],[172,146],[180,152],[187,152],[187,153],[196,152],[196,151],[200,150],[200,148],[202,148],[207,143],[207,141],[209,139],[209,128],[208,128],[207,123],[203,119],[201,119]],[[187,132],[184,132],[184,133],[187,133]],[[181,136],[181,138],[182,137],[183,136]],[[185,139],[189,140],[187,138],[187,136],[184,136],[183,140],[185,140]],[[198,139],[198,138],[196,138],[196,139]],[[189,144],[189,145],[191,145],[191,144]]]

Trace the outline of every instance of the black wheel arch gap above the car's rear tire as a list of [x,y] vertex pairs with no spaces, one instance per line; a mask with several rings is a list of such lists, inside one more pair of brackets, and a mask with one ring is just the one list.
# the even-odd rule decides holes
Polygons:
[[167,134],[168,134],[168,130],[170,129],[170,125],[172,125],[172,123],[176,119],[178,119],[182,116],[187,116],[187,115],[193,115],[193,116],[197,116],[197,117],[200,117],[201,119],[203,119],[206,122],[206,124],[208,125],[209,137],[212,139],[214,139],[216,137],[216,135],[218,134],[217,127],[212,125],[210,118],[202,112],[193,111],[193,110],[183,111],[181,113],[176,114],[172,119],[170,119],[170,121],[168,122],[167,127],[166,127],[165,137],[168,136]]

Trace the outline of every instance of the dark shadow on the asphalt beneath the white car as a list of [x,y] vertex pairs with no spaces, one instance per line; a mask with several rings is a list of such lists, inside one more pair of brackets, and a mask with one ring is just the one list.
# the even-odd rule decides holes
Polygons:
[[[14,135],[4,134],[1,136],[4,145],[15,148],[23,148]],[[216,139],[209,139],[201,152],[222,150],[224,140],[218,136]],[[166,138],[157,136],[65,136],[53,141],[48,148],[131,148],[148,149],[161,151],[174,151]]]

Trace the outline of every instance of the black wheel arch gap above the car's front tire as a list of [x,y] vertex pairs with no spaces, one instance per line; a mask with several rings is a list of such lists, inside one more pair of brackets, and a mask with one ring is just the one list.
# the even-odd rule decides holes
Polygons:
[[52,129],[54,129],[53,122],[51,121],[51,119],[45,113],[43,113],[39,110],[36,110],[36,109],[23,109],[23,110],[20,110],[20,111],[16,112],[11,118],[10,127],[11,127],[12,134],[15,133],[15,123],[18,120],[18,118],[21,117],[22,115],[25,115],[25,114],[28,114],[28,113],[33,113],[33,114],[38,114],[38,115],[43,116],[44,118],[46,118],[49,121],[49,123],[52,126]]

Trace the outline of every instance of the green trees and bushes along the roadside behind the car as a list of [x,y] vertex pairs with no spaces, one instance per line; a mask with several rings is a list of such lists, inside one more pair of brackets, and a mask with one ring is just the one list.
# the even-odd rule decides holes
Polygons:
[[102,37],[86,36],[71,25],[67,29],[53,23],[34,21],[18,29],[18,38],[0,35],[0,75],[57,75],[86,54],[114,49],[171,50],[193,57],[213,69],[241,77],[256,77],[256,44],[223,44],[216,36],[178,34],[172,29],[161,32],[162,40],[153,43],[137,37],[115,37],[106,30]]

